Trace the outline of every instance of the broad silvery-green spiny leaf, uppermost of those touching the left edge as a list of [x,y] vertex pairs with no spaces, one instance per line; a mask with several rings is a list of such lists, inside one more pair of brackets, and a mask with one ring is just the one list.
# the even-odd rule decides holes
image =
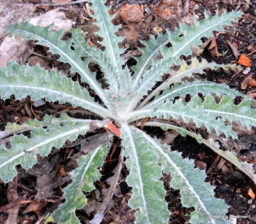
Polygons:
[[0,68],[1,98],[8,99],[12,94],[16,99],[23,99],[30,95],[31,100],[45,97],[46,100],[53,102],[72,102],[74,107],[90,109],[103,117],[111,116],[108,109],[94,102],[93,97],[90,97],[85,89],[82,90],[78,82],[61,77],[54,69],[48,72],[39,65],[29,67],[8,63],[5,68]]

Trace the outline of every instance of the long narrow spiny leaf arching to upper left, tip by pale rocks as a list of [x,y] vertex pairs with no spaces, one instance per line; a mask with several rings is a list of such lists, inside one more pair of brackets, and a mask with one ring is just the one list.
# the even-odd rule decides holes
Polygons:
[[13,24],[6,28],[7,32],[10,32],[15,36],[22,36],[27,40],[37,40],[36,44],[49,47],[49,51],[52,54],[59,54],[60,61],[69,63],[71,70],[78,72],[81,75],[81,80],[90,84],[90,88],[95,90],[100,99],[108,106],[110,104],[109,99],[106,99],[104,91],[97,82],[96,77],[91,75],[88,68],[90,61],[81,60],[81,49],[72,49],[72,38],[67,41],[61,40],[63,36],[63,30],[52,32],[51,26],[42,28],[40,26],[33,26],[29,22],[22,24]]

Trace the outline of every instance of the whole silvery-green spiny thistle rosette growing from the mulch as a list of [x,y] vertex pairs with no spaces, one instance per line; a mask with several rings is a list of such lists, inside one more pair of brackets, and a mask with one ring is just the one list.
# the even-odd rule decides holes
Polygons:
[[[60,61],[69,63],[70,70],[81,76],[81,82],[90,85],[100,102],[95,102],[78,81],[61,77],[54,69],[48,72],[38,65],[29,67],[12,62],[0,68],[1,99],[8,99],[14,94],[15,99],[29,95],[31,100],[44,98],[59,103],[70,102],[74,107],[92,111],[101,119],[83,120],[63,115],[60,118],[45,116],[44,121],[29,120],[23,125],[9,124],[5,132],[13,132],[14,136],[11,149],[3,145],[0,147],[1,179],[4,182],[12,181],[17,175],[15,165],[31,168],[36,163],[37,154],[47,156],[52,147],[60,148],[65,140],[76,140],[79,134],[86,134],[90,130],[92,122],[99,128],[106,126],[106,121],[108,124],[116,122],[120,124],[120,138],[125,148],[125,164],[129,169],[125,181],[132,187],[129,206],[136,209],[136,223],[168,223],[170,211],[164,201],[166,191],[160,180],[163,173],[171,173],[171,187],[180,189],[182,205],[195,208],[190,214],[190,223],[228,223],[228,220],[209,218],[209,215],[226,214],[228,205],[214,198],[214,187],[204,182],[205,172],[194,169],[193,160],[182,159],[179,152],[170,150],[168,145],[161,145],[159,140],[138,129],[135,124],[140,125],[140,120],[148,116],[162,118],[144,125],[173,129],[183,136],[193,136],[255,180],[250,166],[239,163],[236,155],[223,152],[218,143],[189,131],[186,125],[180,127],[178,122],[169,122],[171,118],[172,121],[182,119],[185,124],[193,121],[198,129],[204,126],[208,132],[214,131],[233,139],[237,138],[237,133],[232,130],[232,122],[239,121],[248,129],[255,125],[256,111],[252,108],[252,100],[245,95],[228,88],[226,84],[184,81],[184,77],[191,77],[193,73],[203,74],[205,69],[227,70],[235,69],[235,66],[208,63],[196,58],[186,63],[180,59],[180,56],[189,56],[189,47],[201,45],[201,38],[211,36],[211,31],[221,31],[223,25],[231,26],[232,20],[241,16],[241,12],[223,12],[222,15],[216,12],[213,17],[205,13],[204,20],[194,18],[194,26],[180,23],[179,28],[166,31],[164,35],[151,35],[150,40],[142,42],[145,47],[140,49],[142,55],[134,58],[136,65],[128,68],[126,61],[120,57],[125,49],[118,47],[124,37],[115,35],[119,26],[111,23],[114,15],[109,15],[105,1],[90,3],[92,17],[100,28],[95,34],[102,38],[100,44],[104,46],[104,51],[89,45],[79,29],[74,29],[67,41],[61,40],[63,31],[52,32],[51,26],[42,28],[26,22],[6,29],[11,35],[35,40],[36,44],[49,47],[52,54],[58,54]],[[161,54],[161,59],[156,59],[158,54]],[[108,88],[102,88],[96,74],[91,72],[88,65],[92,62],[99,65],[104,73]],[[173,65],[179,69],[173,70]],[[171,75],[159,84],[163,74]],[[188,94],[189,100],[184,100]],[[243,97],[243,100],[234,104],[237,96]],[[22,130],[31,130],[30,138],[17,134]],[[109,140],[111,138],[113,136],[109,136]],[[104,163],[108,145],[104,143],[77,159],[78,168],[71,172],[72,183],[63,189],[66,200],[52,214],[56,223],[80,223],[76,210],[84,207],[84,193],[92,191],[95,188],[93,181],[100,179],[97,168]]]

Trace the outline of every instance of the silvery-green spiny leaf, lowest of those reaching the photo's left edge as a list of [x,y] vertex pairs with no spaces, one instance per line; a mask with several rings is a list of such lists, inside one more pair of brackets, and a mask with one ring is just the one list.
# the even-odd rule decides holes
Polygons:
[[28,170],[36,163],[36,155],[44,157],[50,154],[52,147],[60,148],[66,140],[75,141],[79,134],[90,129],[88,122],[72,122],[64,120],[52,122],[47,129],[34,128],[31,138],[23,134],[14,135],[11,139],[12,149],[0,145],[0,178],[9,182],[17,175],[15,165],[20,164]]

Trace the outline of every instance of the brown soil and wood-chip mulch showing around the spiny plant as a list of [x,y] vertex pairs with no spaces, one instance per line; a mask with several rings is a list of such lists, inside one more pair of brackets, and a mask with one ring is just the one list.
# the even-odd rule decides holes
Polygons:
[[[55,1],[64,2],[64,1]],[[29,0],[22,1],[23,4],[40,4],[51,3],[46,0]],[[156,35],[156,32],[165,32],[166,29],[173,30],[176,26],[179,26],[179,22],[192,23],[192,17],[195,13],[198,19],[204,18],[204,10],[209,15],[214,15],[217,8],[219,12],[227,10],[241,10],[243,17],[237,20],[237,24],[234,28],[227,28],[225,31],[217,33],[214,32],[214,38],[204,47],[204,52],[198,53],[198,49],[194,52],[198,57],[206,58],[208,61],[215,61],[216,63],[236,63],[241,57],[237,54],[243,54],[245,61],[241,62],[241,70],[239,72],[224,72],[218,70],[215,72],[206,71],[204,79],[214,81],[216,83],[226,83],[230,88],[235,88],[244,94],[248,94],[251,97],[255,97],[255,84],[253,82],[256,79],[255,75],[255,61],[256,61],[256,2],[250,0],[244,1],[171,1],[171,0],[152,0],[152,1],[108,1],[108,5],[112,4],[110,13],[116,13],[116,17],[113,23],[121,24],[117,35],[125,36],[125,39],[120,43],[120,47],[127,48],[124,57],[127,57],[127,65],[134,65],[135,61],[131,56],[140,56],[138,47],[141,47],[140,40],[148,40],[149,35]],[[132,7],[131,7],[132,5]],[[61,7],[61,10],[65,12],[68,19],[72,21],[74,28],[81,28],[86,34],[86,38],[90,38],[92,44],[99,45],[97,42],[98,36],[93,34],[97,31],[97,27],[92,24],[90,19],[90,12],[86,3],[59,5],[59,6],[38,6],[36,8],[35,15],[39,13],[45,13],[54,8]],[[1,13],[1,12],[0,12]],[[70,33],[66,33],[64,38],[68,38]],[[2,38],[3,40],[3,38]],[[204,38],[203,42],[207,42]],[[233,49],[228,43],[231,43]],[[255,43],[255,44],[254,44]],[[33,45],[33,42],[31,42]],[[49,54],[45,47],[33,45],[34,50],[31,56],[38,56],[42,59],[44,66],[57,67],[66,75],[70,75],[70,66],[68,64],[58,62],[58,56]],[[238,51],[236,51],[238,50]],[[236,58],[237,57],[237,58]],[[189,60],[189,58],[184,58]],[[246,63],[247,60],[247,63]],[[28,60],[27,62],[31,62]],[[249,63],[249,64],[248,64]],[[91,65],[92,70],[97,70],[95,65]],[[98,74],[98,78],[102,74]],[[73,76],[72,79],[76,80],[77,76]],[[255,81],[256,82],[256,81]],[[239,100],[239,99],[237,99]],[[57,104],[47,102],[43,106],[37,108],[31,106],[31,100],[29,98],[17,101],[15,99],[0,100],[0,128],[3,130],[4,125],[7,122],[24,122],[28,118],[43,117],[45,114],[60,115],[63,112],[67,112],[70,116],[76,116],[77,118],[88,118],[91,115],[86,113],[80,108],[71,108],[70,104]],[[20,124],[20,123],[19,123]],[[227,143],[226,148],[237,152],[237,157],[241,161],[248,161],[250,163],[256,163],[256,132],[255,129],[248,132],[241,127],[239,129],[239,140],[230,141]],[[151,136],[164,140],[166,133],[159,129],[144,128]],[[204,130],[202,130],[203,132]],[[100,134],[100,132],[99,132]],[[89,137],[89,136],[86,136]],[[81,140],[83,141],[81,137]],[[9,140],[0,140],[1,143],[8,144]],[[95,183],[97,191],[93,191],[88,194],[87,197],[90,200],[90,206],[84,207],[81,211],[77,212],[79,219],[86,223],[93,218],[93,214],[97,211],[104,198],[104,190],[108,189],[108,179],[113,175],[112,171],[115,168],[118,161],[118,153],[120,148],[118,147],[120,142],[115,140],[113,142],[113,148],[109,152],[108,158],[106,158],[106,164],[101,168],[102,179]],[[190,137],[182,138],[177,136],[172,143],[173,150],[179,150],[182,152],[182,156],[195,159],[195,166],[206,170],[207,179],[205,181],[211,182],[216,187],[215,193],[217,198],[223,198],[225,202],[230,205],[228,214],[235,215],[250,215],[250,219],[237,219],[236,223],[255,223],[256,222],[256,208],[255,200],[250,192],[256,193],[256,186],[251,179],[249,179],[238,168],[229,163],[223,161],[217,154],[212,152],[204,145],[200,145]],[[33,170],[24,172],[19,166],[18,179],[13,181],[13,188],[8,185],[0,183],[0,223],[5,223],[9,212],[17,209],[17,204],[12,203],[12,196],[16,195],[20,206],[18,206],[19,213],[17,220],[19,223],[40,223],[38,220],[44,218],[48,212],[56,209],[56,206],[61,203],[62,188],[65,188],[70,183],[70,178],[65,177],[76,164],[74,164],[74,155],[81,150],[81,144],[66,145],[60,152],[58,150],[52,150],[52,153],[48,158],[38,158],[39,163],[33,167]],[[113,201],[109,206],[102,223],[134,223],[135,210],[129,208],[127,200],[131,196],[132,189],[125,183],[125,177],[129,174],[129,171],[123,167],[122,178],[118,183]],[[60,180],[60,176],[62,179]],[[51,179],[49,178],[51,177]],[[60,182],[58,182],[58,180]],[[170,175],[164,175],[163,180],[166,180],[166,201],[172,216],[170,223],[188,223],[189,212],[193,211],[193,208],[182,207],[180,204],[179,191],[175,191],[168,185]],[[49,188],[46,189],[45,182]],[[49,193],[50,196],[47,200],[40,201],[39,191]],[[17,199],[16,198],[16,199]],[[36,198],[37,200],[33,200]],[[26,209],[26,210],[25,210]],[[29,210],[30,209],[30,210]],[[160,215],[160,214],[156,214]]]

